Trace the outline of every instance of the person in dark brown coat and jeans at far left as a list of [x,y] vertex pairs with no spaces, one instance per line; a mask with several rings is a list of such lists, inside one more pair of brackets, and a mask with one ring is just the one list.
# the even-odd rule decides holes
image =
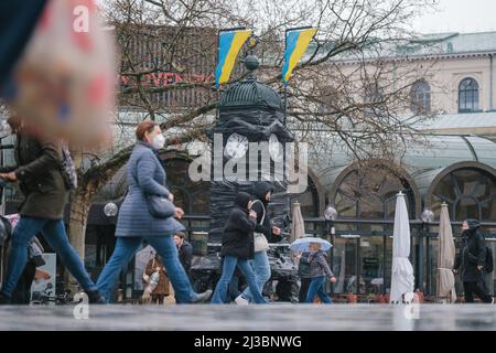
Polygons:
[[11,302],[12,292],[28,263],[28,247],[37,233],[43,235],[79,282],[88,295],[89,302],[103,302],[97,287],[89,278],[79,255],[68,242],[65,231],[63,217],[68,186],[62,174],[62,141],[33,131],[23,119],[11,117],[8,121],[17,137],[14,147],[17,165],[1,168],[0,178],[9,182],[19,182],[24,201],[20,206],[19,223],[12,233],[0,303]]

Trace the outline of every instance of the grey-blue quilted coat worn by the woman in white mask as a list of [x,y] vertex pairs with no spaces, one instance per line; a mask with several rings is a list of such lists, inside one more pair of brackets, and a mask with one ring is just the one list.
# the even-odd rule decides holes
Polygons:
[[158,151],[145,142],[137,142],[128,162],[129,191],[119,210],[116,236],[165,236],[184,231],[174,217],[155,218],[148,208],[147,195],[169,196],[165,171]]

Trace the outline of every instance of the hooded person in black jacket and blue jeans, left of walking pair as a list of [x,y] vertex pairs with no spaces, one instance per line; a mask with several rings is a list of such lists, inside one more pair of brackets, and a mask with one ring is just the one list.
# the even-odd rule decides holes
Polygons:
[[250,207],[251,196],[248,193],[239,192],[235,199],[235,208],[229,215],[223,234],[220,249],[220,256],[224,257],[223,274],[215,287],[212,303],[225,302],[236,266],[242,271],[248,287],[252,290],[254,301],[256,303],[266,302],[255,280],[255,272],[248,264],[248,259],[254,257],[254,229],[257,222],[257,214]]

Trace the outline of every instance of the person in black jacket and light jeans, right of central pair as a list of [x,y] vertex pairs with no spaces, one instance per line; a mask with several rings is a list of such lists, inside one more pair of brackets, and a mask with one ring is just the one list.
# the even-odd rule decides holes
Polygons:
[[[257,224],[255,226],[256,233],[261,233],[267,238],[268,243],[277,243],[281,240],[281,229],[272,226],[269,217],[268,205],[270,197],[273,193],[272,185],[268,182],[258,182],[255,184],[255,201],[251,206],[257,213]],[[260,291],[263,291],[263,286],[270,279],[270,264],[269,257],[267,256],[267,249],[258,250],[254,255],[251,261],[251,267],[257,276],[257,285]],[[245,291],[236,298],[238,304],[246,304],[251,301],[250,289],[247,288]]]

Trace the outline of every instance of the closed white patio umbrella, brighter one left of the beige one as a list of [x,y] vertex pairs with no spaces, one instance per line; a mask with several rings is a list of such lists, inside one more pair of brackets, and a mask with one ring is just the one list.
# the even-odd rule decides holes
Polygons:
[[401,296],[413,292],[413,267],[410,256],[410,222],[408,217],[405,194],[398,193],[396,197],[395,229],[392,233],[392,270],[391,292],[389,301],[401,303]]

